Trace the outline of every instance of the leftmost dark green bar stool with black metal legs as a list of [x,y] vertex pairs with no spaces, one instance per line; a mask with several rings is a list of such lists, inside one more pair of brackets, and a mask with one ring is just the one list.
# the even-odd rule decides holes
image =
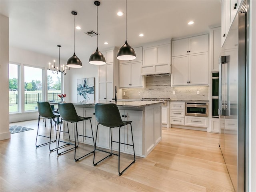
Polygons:
[[[52,138],[52,120],[54,120],[54,122],[55,122],[55,118],[59,118],[60,114],[54,113],[52,111],[52,108],[51,108],[49,102],[37,102],[37,106],[38,106],[39,115],[38,115],[38,126],[37,126],[37,133],[36,133],[36,147],[41,147],[41,146],[49,144],[49,150],[53,151],[54,149],[51,149],[51,143],[53,143],[57,140],[57,131],[56,131],[56,123],[55,123],[54,125],[55,125],[56,139],[52,141],[51,140],[51,138]],[[45,135],[38,134],[39,122],[40,122],[41,117],[45,118],[45,119],[50,119],[50,122],[51,122],[50,136],[45,136]],[[45,126],[46,126],[46,124],[45,124]],[[37,143],[38,136],[46,137],[46,138],[49,138],[50,140],[49,140],[49,142],[46,142],[46,143],[43,143],[43,144],[38,144]]]

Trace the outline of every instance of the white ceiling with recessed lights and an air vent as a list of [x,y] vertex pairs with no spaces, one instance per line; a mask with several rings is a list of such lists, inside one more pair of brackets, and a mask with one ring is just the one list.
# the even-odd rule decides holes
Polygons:
[[[98,7],[98,47],[100,50],[122,46],[125,42],[125,0],[100,0]],[[127,41],[132,47],[162,40],[208,32],[220,25],[220,0],[127,0]],[[73,55],[71,11],[78,13],[75,24],[76,55],[90,55],[96,50],[94,0],[0,0],[0,14],[10,18],[10,46],[58,56],[67,60]],[[187,23],[194,20],[189,26]],[[144,33],[144,37],[139,37]],[[104,45],[107,41],[109,44]]]

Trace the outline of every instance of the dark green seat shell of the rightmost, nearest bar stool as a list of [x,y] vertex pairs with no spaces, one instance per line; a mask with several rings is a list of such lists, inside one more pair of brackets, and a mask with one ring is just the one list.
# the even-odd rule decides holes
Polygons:
[[96,120],[106,127],[119,127],[124,125],[118,107],[114,103],[96,103],[95,116]]

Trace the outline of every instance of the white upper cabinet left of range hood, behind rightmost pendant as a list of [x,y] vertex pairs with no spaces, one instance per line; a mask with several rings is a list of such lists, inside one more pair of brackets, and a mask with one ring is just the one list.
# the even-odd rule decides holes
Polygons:
[[131,61],[120,60],[119,65],[119,87],[143,87],[142,67],[142,47],[134,48],[136,59]]

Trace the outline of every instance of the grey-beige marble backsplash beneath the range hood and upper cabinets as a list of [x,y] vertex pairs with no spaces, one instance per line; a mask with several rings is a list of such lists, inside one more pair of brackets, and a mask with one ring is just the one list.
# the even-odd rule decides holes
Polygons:
[[[209,100],[209,86],[175,86],[171,87],[170,76],[146,78],[145,88],[123,89],[123,99],[171,98],[173,100]],[[175,91],[175,95],[172,92]],[[200,94],[197,94],[197,91]],[[138,94],[140,92],[140,95]]]

